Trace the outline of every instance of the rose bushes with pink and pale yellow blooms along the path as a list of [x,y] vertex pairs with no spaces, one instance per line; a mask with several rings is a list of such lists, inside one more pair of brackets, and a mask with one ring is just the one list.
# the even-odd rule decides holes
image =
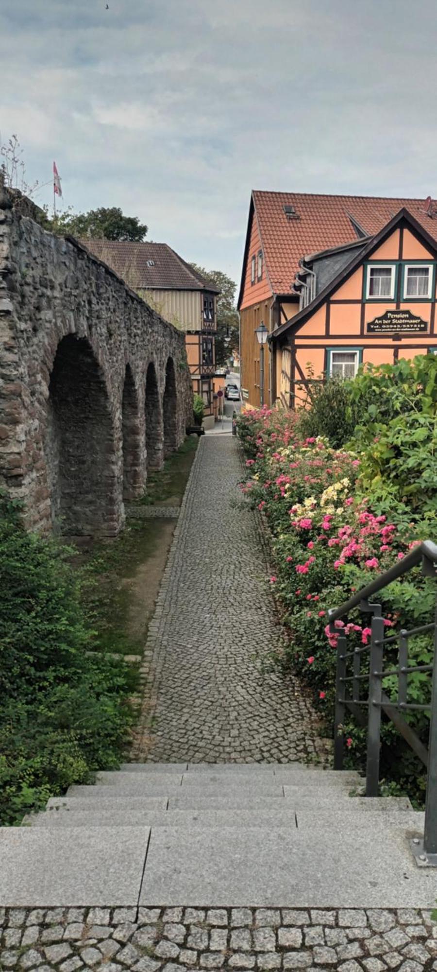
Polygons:
[[[305,677],[331,718],[335,649],[345,622],[337,621],[336,633],[331,633],[328,608],[348,600],[429,534],[429,506],[420,510],[416,505],[413,512],[405,503],[395,504],[392,515],[374,508],[371,491],[364,493],[361,479],[365,453],[333,448],[321,436],[303,438],[300,427],[298,417],[283,410],[264,408],[240,417],[238,432],[248,472],[241,489],[266,517],[270,530],[274,557],[270,587],[287,633],[280,661]],[[401,627],[428,623],[434,598],[434,582],[422,577],[419,569],[392,583],[381,593],[387,630],[398,632]],[[368,616],[359,611],[348,618],[350,647],[369,642],[368,623]],[[431,640],[426,636],[412,640],[410,652],[412,660],[429,663]],[[387,663],[390,656],[394,661],[395,645],[391,651],[387,648]],[[367,655],[361,657],[365,672]],[[397,691],[396,677],[385,679],[384,688],[388,695]],[[409,678],[409,699],[423,702],[425,698],[429,698],[429,677],[416,673]],[[427,713],[411,713],[409,721],[426,741]],[[346,736],[350,763],[362,764],[365,732],[352,718]],[[383,776],[408,786],[410,795],[420,794],[423,774],[417,757],[388,722],[383,744]]]

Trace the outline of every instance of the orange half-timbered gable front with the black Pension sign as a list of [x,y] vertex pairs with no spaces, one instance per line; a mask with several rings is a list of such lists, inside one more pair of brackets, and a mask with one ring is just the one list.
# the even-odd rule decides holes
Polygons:
[[398,221],[387,238],[364,248],[344,279],[274,335],[277,399],[298,407],[311,374],[352,377],[360,364],[437,353],[437,248]]

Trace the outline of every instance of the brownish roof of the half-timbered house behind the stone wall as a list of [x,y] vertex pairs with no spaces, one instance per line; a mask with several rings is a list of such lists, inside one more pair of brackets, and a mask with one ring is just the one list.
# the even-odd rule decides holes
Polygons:
[[130,243],[81,239],[82,245],[103,260],[133,291],[208,291],[218,288],[193,270],[167,243]]

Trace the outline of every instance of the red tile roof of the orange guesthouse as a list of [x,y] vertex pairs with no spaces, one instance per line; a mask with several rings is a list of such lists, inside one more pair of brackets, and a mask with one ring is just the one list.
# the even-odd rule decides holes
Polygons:
[[[351,218],[373,236],[405,207],[437,239],[437,212],[427,216],[424,199],[263,191],[253,191],[252,198],[274,294],[290,292],[303,257],[356,240]],[[284,206],[292,206],[298,219],[287,219]]]

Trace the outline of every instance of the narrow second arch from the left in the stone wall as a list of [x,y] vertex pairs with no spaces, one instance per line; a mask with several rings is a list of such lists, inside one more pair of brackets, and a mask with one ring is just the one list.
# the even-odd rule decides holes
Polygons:
[[121,399],[123,500],[134,500],[142,489],[141,435],[138,394],[130,364],[124,372]]

